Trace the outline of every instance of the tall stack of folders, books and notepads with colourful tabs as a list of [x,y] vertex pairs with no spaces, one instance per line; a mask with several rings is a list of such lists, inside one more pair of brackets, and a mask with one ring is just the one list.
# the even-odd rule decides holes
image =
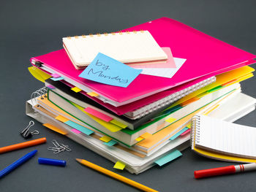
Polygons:
[[[253,76],[247,65],[255,55],[176,20],[63,43],[63,50],[31,58],[29,71],[45,88],[31,94],[26,114],[129,172],[180,156],[189,146],[193,115],[234,121],[255,110],[255,99],[240,85]],[[97,53],[142,73],[126,88],[79,77]]]

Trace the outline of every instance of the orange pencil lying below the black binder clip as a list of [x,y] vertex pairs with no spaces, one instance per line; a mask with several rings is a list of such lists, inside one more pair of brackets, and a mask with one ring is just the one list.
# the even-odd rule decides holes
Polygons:
[[1,153],[6,153],[6,152],[9,152],[9,151],[12,151],[12,150],[19,150],[19,149],[26,148],[26,147],[31,147],[31,146],[34,146],[34,145],[39,145],[39,144],[42,144],[42,143],[45,143],[45,142],[46,142],[46,138],[42,137],[42,138],[39,138],[39,139],[31,140],[29,142],[20,142],[20,143],[17,143],[15,145],[9,145],[9,146],[6,146],[6,147],[1,147],[0,148],[0,154]]

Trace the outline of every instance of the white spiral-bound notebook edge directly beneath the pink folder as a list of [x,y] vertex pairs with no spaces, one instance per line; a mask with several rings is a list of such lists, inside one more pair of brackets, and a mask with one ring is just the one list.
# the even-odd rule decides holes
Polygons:
[[137,118],[141,118],[145,115],[148,115],[148,113],[159,109],[160,107],[163,107],[167,104],[171,104],[174,101],[177,101],[178,99],[181,99],[184,96],[187,96],[189,93],[192,93],[193,91],[196,91],[200,88],[205,87],[206,85],[211,84],[212,82],[216,81],[216,77],[210,77],[206,80],[203,80],[202,82],[197,82],[195,85],[192,85],[189,88],[185,88],[184,90],[181,90],[179,92],[173,93],[170,96],[166,96],[163,99],[159,99],[158,101],[154,101],[152,104],[148,104],[148,107],[140,107],[138,110],[135,110],[133,112],[133,115],[139,115]]

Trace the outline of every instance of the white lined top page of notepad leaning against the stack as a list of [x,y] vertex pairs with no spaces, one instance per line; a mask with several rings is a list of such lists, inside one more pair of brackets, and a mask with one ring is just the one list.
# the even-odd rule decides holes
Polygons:
[[227,155],[256,158],[256,128],[198,115],[196,147]]

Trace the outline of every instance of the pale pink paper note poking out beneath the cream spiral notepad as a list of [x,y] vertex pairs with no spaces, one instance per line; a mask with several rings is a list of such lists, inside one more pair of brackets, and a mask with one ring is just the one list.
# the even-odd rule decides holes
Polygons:
[[136,68],[136,69],[142,69],[142,68],[176,68],[176,64],[174,62],[173,59],[173,54],[170,51],[170,47],[162,47],[162,50],[165,51],[166,55],[167,55],[167,61],[165,62],[161,62],[159,61],[159,63],[154,63],[154,64],[132,64],[129,66],[132,66],[132,68]]

